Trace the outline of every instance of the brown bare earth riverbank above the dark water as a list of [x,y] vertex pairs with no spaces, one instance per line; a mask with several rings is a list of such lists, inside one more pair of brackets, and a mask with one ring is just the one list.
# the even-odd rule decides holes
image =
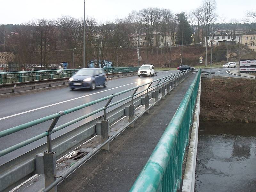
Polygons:
[[202,80],[200,120],[256,123],[256,80]]

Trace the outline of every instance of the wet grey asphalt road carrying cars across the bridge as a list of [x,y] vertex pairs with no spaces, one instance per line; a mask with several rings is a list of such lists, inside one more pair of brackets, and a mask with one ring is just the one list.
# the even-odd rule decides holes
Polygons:
[[[120,92],[137,85],[156,80],[160,77],[164,77],[178,71],[160,71],[157,76],[154,77],[126,77],[108,81],[108,87],[103,86],[96,87],[94,91],[91,90],[74,90],[71,91],[68,87],[57,88],[53,90],[40,91],[35,93],[29,93],[25,95],[12,96],[9,98],[3,98],[0,100],[0,131],[12,128],[14,126],[24,124],[35,119],[54,114],[59,111],[64,111],[69,108],[73,108],[84,103],[100,99],[110,94]],[[142,90],[145,88],[140,88]],[[138,91],[139,91],[138,90]],[[133,92],[133,91],[132,91]],[[128,92],[113,98],[112,102],[120,100],[124,97],[130,96],[132,92]],[[78,110],[71,114],[60,117],[56,126],[71,121],[79,116],[92,112],[98,108],[105,106],[107,101],[95,104],[93,106]],[[112,103],[111,102],[111,103]],[[121,104],[119,104],[121,105]],[[116,108],[116,106],[109,108],[109,110]],[[75,127],[82,125],[103,113],[95,114],[87,119],[84,119],[76,124],[70,125],[58,132],[52,134],[52,139],[62,135]],[[48,130],[52,121],[48,121],[39,125],[35,125],[28,129],[7,135],[0,138],[0,150],[11,147],[17,143],[27,140],[33,136],[43,133]],[[0,164],[15,158],[28,150],[35,148],[46,142],[46,138],[38,140],[30,145],[13,151],[5,156],[0,157]]]

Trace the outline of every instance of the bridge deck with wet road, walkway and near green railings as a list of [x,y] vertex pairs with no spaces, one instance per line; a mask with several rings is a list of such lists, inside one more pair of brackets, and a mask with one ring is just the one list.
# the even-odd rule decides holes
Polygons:
[[201,70],[129,76],[1,99],[0,191],[192,190]]

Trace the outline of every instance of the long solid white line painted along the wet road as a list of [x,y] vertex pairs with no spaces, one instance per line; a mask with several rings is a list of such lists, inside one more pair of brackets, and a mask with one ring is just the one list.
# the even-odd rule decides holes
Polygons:
[[[159,78],[159,77],[153,77],[153,78]],[[153,79],[153,78],[151,78],[151,79]],[[148,79],[141,80],[141,81],[148,81]],[[61,101],[61,102],[58,102],[58,103],[53,103],[53,104],[51,104],[51,105],[46,105],[46,106],[44,106],[44,107],[39,107],[39,108],[31,109],[31,110],[28,110],[28,111],[24,111],[24,112],[21,112],[21,113],[17,113],[17,114],[14,114],[14,115],[2,117],[2,118],[0,118],[0,120],[7,119],[7,118],[10,118],[10,117],[14,117],[14,116],[18,116],[18,115],[22,115],[22,114],[24,114],[24,113],[29,113],[29,112],[36,111],[36,110],[39,110],[39,109],[51,107],[51,106],[58,105],[58,104],[61,104],[61,103],[66,103],[66,102],[68,102],[68,101],[81,99],[81,98],[83,98],[83,97],[88,97],[88,96],[91,96],[91,95],[94,95],[94,94],[102,93],[102,92],[109,91],[109,90],[112,90],[112,89],[117,89],[117,88],[119,88],[119,87],[124,87],[124,86],[126,86],[126,85],[135,84],[135,83],[138,83],[138,82],[141,82],[141,81],[136,81],[136,82],[133,82],[133,83],[130,83],[130,84],[121,85],[121,86],[114,87],[114,88],[111,88],[111,89],[107,89],[107,90],[104,90],[104,91],[92,93],[92,94],[89,94],[89,95],[84,95],[84,96],[77,97],[77,98],[74,98],[74,99],[70,99],[70,100],[66,100],[66,101]]]

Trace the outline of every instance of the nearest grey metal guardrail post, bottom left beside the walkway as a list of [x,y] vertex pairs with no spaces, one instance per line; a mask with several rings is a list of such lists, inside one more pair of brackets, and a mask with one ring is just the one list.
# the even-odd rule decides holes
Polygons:
[[[56,153],[44,152],[44,186],[48,187],[56,180]],[[50,192],[57,192],[57,186]]]

